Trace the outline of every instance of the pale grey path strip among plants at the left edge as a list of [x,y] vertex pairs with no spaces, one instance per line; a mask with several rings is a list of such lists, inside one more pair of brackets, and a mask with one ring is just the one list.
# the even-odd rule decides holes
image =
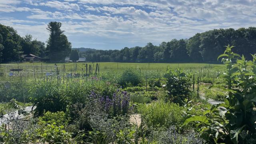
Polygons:
[[[35,109],[35,107],[34,107]],[[25,111],[30,113],[32,110],[32,106],[27,106],[25,108]],[[19,115],[18,114],[18,110],[14,111],[14,112],[10,112],[9,114],[5,114],[1,119],[0,119],[0,124],[7,124],[8,122],[10,122],[10,120],[13,119],[22,119],[25,116],[23,114]]]

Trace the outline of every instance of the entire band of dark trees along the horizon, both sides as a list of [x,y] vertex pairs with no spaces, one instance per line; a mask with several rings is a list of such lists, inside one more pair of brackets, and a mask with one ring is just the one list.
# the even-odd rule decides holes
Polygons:
[[[20,61],[22,54],[34,54],[55,62],[64,60],[70,56],[71,43],[61,26],[60,22],[48,24],[46,30],[50,34],[45,44],[32,40],[30,34],[21,37],[14,28],[0,24],[0,62]],[[189,39],[162,42],[159,46],[149,42],[144,47],[121,50],[86,48],[80,50],[79,56],[91,62],[215,62],[228,44],[236,46],[234,52],[250,58],[250,54],[256,53],[256,28],[214,29],[197,33]],[[71,57],[78,59],[76,51]]]

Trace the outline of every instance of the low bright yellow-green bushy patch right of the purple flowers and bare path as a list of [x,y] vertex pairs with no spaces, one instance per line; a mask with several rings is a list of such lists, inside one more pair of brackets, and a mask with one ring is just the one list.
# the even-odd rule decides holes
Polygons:
[[142,114],[149,127],[170,127],[182,124],[181,112],[184,108],[175,103],[153,102],[150,105],[141,105],[138,111]]

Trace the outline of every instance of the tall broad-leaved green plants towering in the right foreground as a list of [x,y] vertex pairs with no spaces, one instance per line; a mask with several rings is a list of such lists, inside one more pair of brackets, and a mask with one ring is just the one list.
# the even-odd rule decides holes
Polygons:
[[[226,46],[224,54],[221,54],[222,62],[226,66],[225,72],[221,75],[228,89],[227,97],[223,104],[212,106],[205,111],[204,116],[192,116],[185,120],[184,125],[189,122],[198,122],[195,126],[201,132],[202,137],[209,138],[215,142],[249,142],[246,137],[252,138],[256,133],[256,87],[253,61],[245,60],[244,56],[232,52],[234,46]],[[241,132],[246,135],[240,136]],[[244,134],[245,134],[244,133]]]

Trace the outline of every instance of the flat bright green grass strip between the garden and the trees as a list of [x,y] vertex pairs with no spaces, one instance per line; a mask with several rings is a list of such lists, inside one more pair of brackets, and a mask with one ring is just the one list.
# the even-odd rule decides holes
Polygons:
[[[94,70],[96,68],[96,62],[92,63],[57,63],[57,66],[61,66],[61,70],[63,70],[65,66],[66,72],[70,71],[82,71],[82,67],[84,67],[84,64],[90,64],[92,67],[94,67]],[[165,71],[168,66],[170,66],[171,69],[176,69],[180,68],[183,70],[191,70],[192,71],[197,71],[198,69],[209,69],[211,70],[212,68],[216,66],[224,66],[223,64],[206,64],[206,63],[120,63],[120,62],[98,62],[100,65],[100,71],[105,72],[105,71],[111,71],[111,70],[124,70],[127,68],[136,68],[140,70],[155,70],[155,71]],[[6,65],[6,64],[3,64]],[[7,67],[8,69],[10,68],[18,68],[17,64],[7,64],[9,66],[4,66]],[[12,65],[12,66],[10,66]],[[19,68],[22,68],[23,70],[27,68],[33,68],[33,63],[29,62],[24,62],[24,63],[19,63]],[[52,69],[54,68],[54,63],[45,63],[45,62],[34,62],[34,66],[37,66],[38,70],[41,70],[41,65],[42,69]],[[77,66],[76,66],[77,65]],[[52,67],[51,67],[52,66]]]

